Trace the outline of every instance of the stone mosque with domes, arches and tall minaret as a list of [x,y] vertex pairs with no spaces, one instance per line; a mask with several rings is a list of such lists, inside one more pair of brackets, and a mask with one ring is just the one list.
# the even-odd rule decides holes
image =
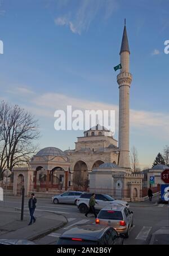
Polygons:
[[78,137],[74,150],[57,147],[41,149],[28,167],[14,168],[14,194],[22,185],[29,192],[56,193],[60,190],[80,189],[108,193],[116,198],[139,201],[142,174],[130,168],[130,48],[126,22],[120,50],[121,70],[119,86],[118,141],[111,131],[98,124]]

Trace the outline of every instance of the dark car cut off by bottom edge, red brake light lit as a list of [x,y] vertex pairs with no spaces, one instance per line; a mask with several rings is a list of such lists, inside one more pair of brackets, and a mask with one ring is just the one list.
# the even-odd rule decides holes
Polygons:
[[79,225],[63,233],[57,245],[122,245],[123,239],[112,227]]

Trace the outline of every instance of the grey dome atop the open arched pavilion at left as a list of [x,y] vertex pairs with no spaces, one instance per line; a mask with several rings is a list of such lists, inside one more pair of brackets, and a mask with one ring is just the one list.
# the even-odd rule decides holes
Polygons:
[[45,147],[39,150],[35,157],[66,157],[65,153],[57,147]]

